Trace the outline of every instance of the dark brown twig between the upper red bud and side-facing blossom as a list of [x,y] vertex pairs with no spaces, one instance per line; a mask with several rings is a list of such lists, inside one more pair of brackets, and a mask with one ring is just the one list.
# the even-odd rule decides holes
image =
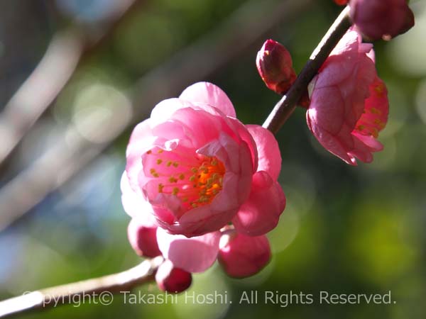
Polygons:
[[315,74],[317,74],[330,52],[332,52],[350,26],[349,6],[346,6],[324,35],[320,44],[312,52],[310,60],[303,67],[288,92],[275,104],[268,118],[263,123],[264,128],[271,130],[274,134],[280,130],[281,126],[283,126],[293,111],[295,111],[297,102],[300,100],[303,92],[306,91],[308,84],[315,77]]

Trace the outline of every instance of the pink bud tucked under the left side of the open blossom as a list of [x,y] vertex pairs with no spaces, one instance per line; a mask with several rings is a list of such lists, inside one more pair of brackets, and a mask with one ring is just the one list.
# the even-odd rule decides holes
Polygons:
[[144,257],[156,257],[161,254],[157,244],[157,228],[146,227],[133,218],[127,228],[129,242],[136,254]]

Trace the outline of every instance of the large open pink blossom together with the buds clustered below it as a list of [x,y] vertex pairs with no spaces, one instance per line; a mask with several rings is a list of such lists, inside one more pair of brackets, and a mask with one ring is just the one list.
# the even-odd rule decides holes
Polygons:
[[126,150],[122,203],[141,256],[162,255],[160,289],[183,291],[191,273],[219,260],[230,276],[256,274],[271,259],[266,233],[285,208],[281,157],[272,133],[236,119],[214,84],[189,86],[158,103]]

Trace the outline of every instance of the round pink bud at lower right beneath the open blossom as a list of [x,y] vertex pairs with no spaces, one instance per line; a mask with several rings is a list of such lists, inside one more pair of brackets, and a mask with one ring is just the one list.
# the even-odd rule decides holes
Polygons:
[[271,248],[265,235],[251,237],[226,233],[221,238],[218,260],[226,274],[242,278],[260,272],[271,259]]

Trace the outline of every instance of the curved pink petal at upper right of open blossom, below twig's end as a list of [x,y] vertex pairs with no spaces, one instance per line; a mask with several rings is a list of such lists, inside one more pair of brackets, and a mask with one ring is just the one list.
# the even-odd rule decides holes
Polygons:
[[246,125],[258,152],[258,171],[265,171],[276,181],[281,170],[281,153],[277,140],[271,131],[261,125]]

